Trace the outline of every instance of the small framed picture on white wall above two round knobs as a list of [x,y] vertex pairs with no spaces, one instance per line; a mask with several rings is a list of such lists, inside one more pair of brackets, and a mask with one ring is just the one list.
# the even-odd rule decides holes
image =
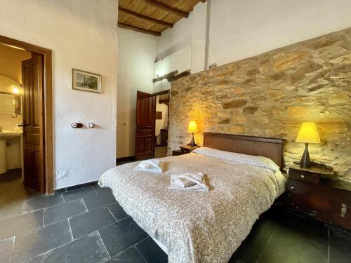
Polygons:
[[101,93],[101,75],[72,69],[72,88]]

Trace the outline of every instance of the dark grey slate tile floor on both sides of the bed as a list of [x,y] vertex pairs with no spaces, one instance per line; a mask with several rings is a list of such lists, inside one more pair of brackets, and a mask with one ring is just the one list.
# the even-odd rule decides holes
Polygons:
[[[110,189],[94,186],[42,196],[23,187],[18,175],[8,175],[0,177],[0,190],[1,263],[167,262]],[[272,208],[230,262],[351,262],[351,236],[343,234]]]

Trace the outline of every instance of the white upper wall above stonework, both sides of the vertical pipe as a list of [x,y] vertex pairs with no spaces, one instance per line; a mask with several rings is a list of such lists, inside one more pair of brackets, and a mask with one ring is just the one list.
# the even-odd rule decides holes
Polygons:
[[[224,65],[351,27],[350,0],[208,0],[162,32],[158,59],[191,44],[191,72],[204,70],[208,3],[208,65]],[[154,86],[157,91],[168,88],[165,80]]]

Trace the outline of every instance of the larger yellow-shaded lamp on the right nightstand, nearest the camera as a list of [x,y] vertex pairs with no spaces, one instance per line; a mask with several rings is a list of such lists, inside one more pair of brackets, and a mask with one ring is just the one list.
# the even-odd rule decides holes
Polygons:
[[314,122],[304,122],[298,131],[298,137],[296,137],[296,142],[305,142],[305,151],[301,158],[300,166],[302,168],[311,168],[310,154],[308,153],[309,143],[321,143],[319,140],[318,130],[316,123]]

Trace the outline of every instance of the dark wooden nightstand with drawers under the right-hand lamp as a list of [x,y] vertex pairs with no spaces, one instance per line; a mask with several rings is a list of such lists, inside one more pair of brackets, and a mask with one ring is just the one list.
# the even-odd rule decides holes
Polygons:
[[332,170],[291,166],[286,198],[291,210],[351,230],[351,183]]

